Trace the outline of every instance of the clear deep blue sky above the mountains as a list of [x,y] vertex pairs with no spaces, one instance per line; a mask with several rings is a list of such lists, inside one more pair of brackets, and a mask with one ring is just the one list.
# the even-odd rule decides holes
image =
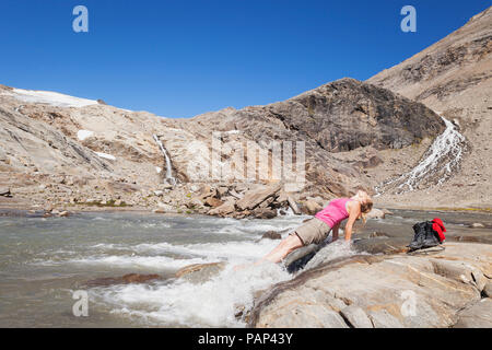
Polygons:
[[[89,9],[89,33],[72,10]],[[417,33],[400,9],[417,9]],[[365,80],[490,0],[1,0],[0,83],[166,117],[282,101]]]

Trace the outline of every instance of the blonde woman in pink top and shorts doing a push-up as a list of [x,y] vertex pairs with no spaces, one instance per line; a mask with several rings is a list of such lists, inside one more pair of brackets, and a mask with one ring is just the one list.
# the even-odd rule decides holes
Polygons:
[[367,192],[360,190],[352,198],[338,198],[331,200],[328,206],[319,211],[313,219],[297,228],[285,240],[261,260],[280,262],[285,256],[302,246],[312,243],[319,244],[332,231],[332,242],[338,240],[338,230],[340,223],[349,219],[345,225],[345,241],[349,242],[352,236],[353,224],[356,219],[363,219],[373,209],[373,201]]

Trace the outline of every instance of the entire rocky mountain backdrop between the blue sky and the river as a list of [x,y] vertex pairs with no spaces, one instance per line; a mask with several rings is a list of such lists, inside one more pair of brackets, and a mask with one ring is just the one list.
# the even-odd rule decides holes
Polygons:
[[491,13],[367,82],[190,119],[0,85],[0,206],[231,212],[281,182],[257,207],[360,188],[388,207],[491,207]]

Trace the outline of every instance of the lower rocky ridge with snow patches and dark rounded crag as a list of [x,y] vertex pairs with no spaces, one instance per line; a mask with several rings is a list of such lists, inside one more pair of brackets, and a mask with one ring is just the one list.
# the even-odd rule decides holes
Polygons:
[[[371,189],[361,170],[380,164],[377,150],[413,147],[445,128],[424,105],[353,79],[285,102],[191,119],[52,95],[0,91],[0,166],[3,186],[12,188],[11,203],[206,212],[247,190],[263,190],[258,184],[291,182],[297,187],[283,192],[297,201],[317,197],[319,206],[333,196]],[[169,174],[176,186],[166,184]],[[237,184],[246,187],[237,189]],[[225,189],[211,191],[208,185]],[[288,197],[282,198],[285,207]],[[279,203],[263,206],[271,210]]]

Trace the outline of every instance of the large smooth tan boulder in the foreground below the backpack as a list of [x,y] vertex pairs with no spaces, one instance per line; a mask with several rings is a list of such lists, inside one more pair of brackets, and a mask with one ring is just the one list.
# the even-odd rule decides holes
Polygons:
[[[452,327],[490,325],[481,299],[492,277],[485,244],[447,244],[430,256],[341,258],[301,272],[257,299],[251,327]],[[490,308],[489,308],[490,311]]]

